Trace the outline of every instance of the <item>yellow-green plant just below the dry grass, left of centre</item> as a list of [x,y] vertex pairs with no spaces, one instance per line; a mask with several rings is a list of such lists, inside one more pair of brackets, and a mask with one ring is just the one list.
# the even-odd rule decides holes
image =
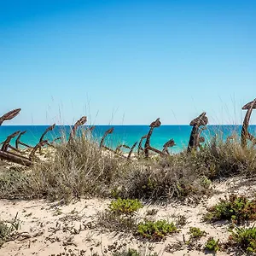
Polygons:
[[121,199],[111,201],[109,209],[116,214],[133,214],[142,208],[143,204],[137,199]]

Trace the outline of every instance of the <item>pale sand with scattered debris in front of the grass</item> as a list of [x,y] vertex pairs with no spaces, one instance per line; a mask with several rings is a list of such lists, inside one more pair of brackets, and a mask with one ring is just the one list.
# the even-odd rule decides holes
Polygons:
[[[48,201],[0,201],[0,219],[9,220],[15,218],[18,212],[18,218],[21,221],[20,230],[16,234],[15,241],[9,241],[0,248],[1,256],[14,255],[51,255],[63,253],[64,248],[72,249],[73,252],[86,250],[86,255],[90,255],[90,247],[93,252],[102,254],[108,246],[126,243],[126,247],[137,248],[138,246],[153,247],[153,251],[160,255],[205,255],[205,253],[189,251],[183,243],[189,240],[189,227],[199,227],[207,231],[207,236],[202,237],[199,243],[203,244],[209,236],[213,236],[220,241],[227,241],[229,236],[228,222],[223,224],[206,224],[201,221],[202,214],[207,212],[207,207],[215,204],[219,197],[230,192],[246,194],[247,196],[255,194],[255,181],[242,181],[240,178],[233,178],[223,183],[216,183],[215,189],[218,193],[211,198],[201,201],[197,206],[180,203],[170,203],[168,205],[146,205],[138,212],[140,217],[145,217],[149,209],[157,209],[158,212],[154,219],[175,220],[173,214],[183,214],[188,218],[186,224],[179,233],[167,236],[166,241],[150,242],[144,244],[138,241],[131,234],[109,233],[107,231],[90,229],[88,224],[94,223],[97,218],[97,212],[102,212],[108,208],[108,200],[90,199],[71,203],[67,206],[60,203],[49,203]],[[180,243],[183,248],[180,250],[171,250],[174,244]],[[169,250],[168,250],[169,248]],[[77,254],[79,255],[79,254]],[[226,253],[217,253],[217,255],[226,255]]]

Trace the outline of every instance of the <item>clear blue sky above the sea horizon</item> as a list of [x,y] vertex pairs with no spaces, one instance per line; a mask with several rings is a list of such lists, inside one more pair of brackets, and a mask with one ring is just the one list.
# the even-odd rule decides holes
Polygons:
[[256,2],[1,0],[0,86],[0,114],[22,109],[12,125],[238,124],[256,97]]

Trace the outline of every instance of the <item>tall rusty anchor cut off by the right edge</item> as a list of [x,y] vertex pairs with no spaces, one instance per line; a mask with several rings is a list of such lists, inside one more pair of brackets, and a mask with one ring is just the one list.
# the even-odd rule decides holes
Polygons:
[[253,102],[248,102],[241,109],[247,109],[247,113],[243,120],[242,128],[241,128],[241,146],[245,148],[247,146],[247,140],[250,140],[253,145],[256,144],[256,138],[248,131],[249,122],[251,115],[253,113],[253,109],[256,108],[256,99]]

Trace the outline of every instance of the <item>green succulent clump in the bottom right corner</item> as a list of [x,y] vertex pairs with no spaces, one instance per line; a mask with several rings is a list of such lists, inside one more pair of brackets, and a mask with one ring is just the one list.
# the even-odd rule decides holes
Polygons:
[[256,228],[236,228],[231,231],[230,241],[235,242],[236,247],[245,249],[247,253],[256,253]]

